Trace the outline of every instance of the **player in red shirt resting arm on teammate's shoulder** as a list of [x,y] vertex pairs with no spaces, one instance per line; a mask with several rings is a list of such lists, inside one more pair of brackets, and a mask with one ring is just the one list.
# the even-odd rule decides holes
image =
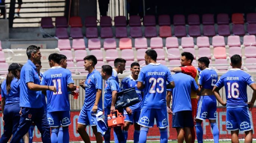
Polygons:
[[[181,67],[173,68],[173,72],[182,72],[184,74],[190,75],[195,81],[198,80],[197,69],[192,66],[192,62],[194,60],[194,56],[192,53],[183,52],[181,53]],[[192,117],[195,125],[195,116],[197,114],[197,93],[195,91],[191,91],[191,105],[192,105]],[[192,142],[195,142],[195,130],[194,126],[191,127],[192,134]]]

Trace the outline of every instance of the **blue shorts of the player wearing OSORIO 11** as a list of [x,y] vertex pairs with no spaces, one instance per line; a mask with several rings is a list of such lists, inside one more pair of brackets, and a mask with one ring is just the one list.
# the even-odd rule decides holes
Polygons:
[[50,127],[59,127],[59,126],[69,126],[70,121],[70,111],[54,111],[47,113],[47,120]]

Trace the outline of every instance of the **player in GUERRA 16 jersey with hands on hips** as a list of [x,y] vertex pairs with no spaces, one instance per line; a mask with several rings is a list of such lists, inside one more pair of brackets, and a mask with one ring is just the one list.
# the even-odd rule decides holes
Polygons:
[[[252,143],[253,122],[249,108],[256,100],[256,84],[250,74],[241,70],[240,55],[231,57],[232,69],[222,75],[213,88],[213,94],[220,104],[226,106],[226,130],[231,131],[231,142],[239,143],[238,133],[244,131],[244,143]],[[246,88],[253,90],[252,100],[248,102]],[[219,90],[225,86],[226,102],[222,100]]]

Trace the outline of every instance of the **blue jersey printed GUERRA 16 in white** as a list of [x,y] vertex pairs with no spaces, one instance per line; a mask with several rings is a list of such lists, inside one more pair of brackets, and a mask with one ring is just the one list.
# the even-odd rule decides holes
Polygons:
[[238,108],[248,106],[247,85],[254,84],[250,74],[241,69],[230,69],[226,74],[222,75],[215,84],[216,87],[225,86],[227,108]]

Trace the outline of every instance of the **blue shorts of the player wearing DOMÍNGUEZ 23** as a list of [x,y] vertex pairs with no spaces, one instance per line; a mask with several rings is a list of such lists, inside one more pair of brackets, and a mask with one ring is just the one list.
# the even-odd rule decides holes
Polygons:
[[153,127],[154,122],[157,122],[157,127],[166,128],[168,127],[167,120],[167,109],[148,109],[142,108],[141,115],[139,116],[138,124],[144,127]]

